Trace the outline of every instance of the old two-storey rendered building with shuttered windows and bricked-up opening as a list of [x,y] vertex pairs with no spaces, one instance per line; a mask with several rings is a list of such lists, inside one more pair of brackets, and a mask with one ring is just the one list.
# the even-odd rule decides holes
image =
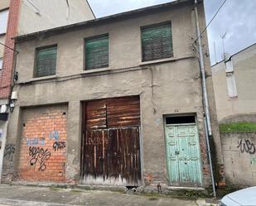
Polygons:
[[[191,0],[17,36],[2,181],[209,186],[197,36]],[[221,165],[210,75],[206,85]]]

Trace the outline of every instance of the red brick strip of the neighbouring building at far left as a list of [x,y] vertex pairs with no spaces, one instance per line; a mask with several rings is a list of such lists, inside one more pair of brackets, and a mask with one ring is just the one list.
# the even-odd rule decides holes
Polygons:
[[[12,37],[17,36],[18,17],[20,10],[20,0],[10,1],[9,17],[7,22],[7,33],[5,45],[14,48],[15,43]],[[3,69],[0,72],[0,98],[8,98],[11,93],[11,84],[13,76],[13,62],[14,52],[13,50],[5,47],[3,52]]]

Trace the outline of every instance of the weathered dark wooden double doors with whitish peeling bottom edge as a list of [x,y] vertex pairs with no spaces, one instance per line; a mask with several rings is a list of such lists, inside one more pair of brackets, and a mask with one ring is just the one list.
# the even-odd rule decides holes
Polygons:
[[87,130],[84,184],[140,185],[139,128]]

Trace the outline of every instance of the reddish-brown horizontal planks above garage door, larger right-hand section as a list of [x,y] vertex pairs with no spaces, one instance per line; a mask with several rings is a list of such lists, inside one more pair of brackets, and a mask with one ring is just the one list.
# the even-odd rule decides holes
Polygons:
[[108,127],[140,126],[140,102],[138,96],[107,99]]

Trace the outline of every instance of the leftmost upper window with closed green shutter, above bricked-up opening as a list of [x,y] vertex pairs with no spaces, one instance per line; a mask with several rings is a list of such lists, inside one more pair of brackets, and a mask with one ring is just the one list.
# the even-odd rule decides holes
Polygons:
[[36,49],[35,77],[56,74],[57,46]]

